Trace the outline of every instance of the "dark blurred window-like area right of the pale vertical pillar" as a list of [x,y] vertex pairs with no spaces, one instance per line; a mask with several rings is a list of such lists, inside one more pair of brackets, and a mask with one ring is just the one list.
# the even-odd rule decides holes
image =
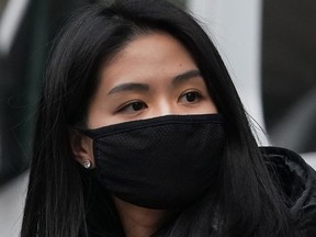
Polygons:
[[262,98],[272,143],[316,151],[316,1],[264,0]]

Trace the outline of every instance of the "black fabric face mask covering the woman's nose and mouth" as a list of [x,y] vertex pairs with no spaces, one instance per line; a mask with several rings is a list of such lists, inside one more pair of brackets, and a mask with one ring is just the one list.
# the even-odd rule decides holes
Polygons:
[[93,138],[95,178],[119,199],[179,208],[210,190],[225,143],[219,114],[167,115],[83,131]]

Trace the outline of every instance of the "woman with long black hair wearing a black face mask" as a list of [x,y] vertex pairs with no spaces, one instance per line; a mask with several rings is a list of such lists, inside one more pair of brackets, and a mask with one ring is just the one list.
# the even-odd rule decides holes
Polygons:
[[258,148],[213,43],[165,1],[72,18],[36,124],[22,237],[316,234],[315,172]]

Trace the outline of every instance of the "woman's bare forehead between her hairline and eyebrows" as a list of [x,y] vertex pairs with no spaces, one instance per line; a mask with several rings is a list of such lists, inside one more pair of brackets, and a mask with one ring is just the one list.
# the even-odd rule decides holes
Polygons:
[[165,32],[135,36],[101,68],[101,79],[110,87],[125,80],[172,78],[198,69],[187,48]]

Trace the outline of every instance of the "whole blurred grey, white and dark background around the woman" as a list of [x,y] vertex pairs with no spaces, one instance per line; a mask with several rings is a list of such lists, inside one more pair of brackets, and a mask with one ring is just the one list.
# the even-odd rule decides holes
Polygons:
[[[97,0],[0,0],[0,236],[18,236],[35,105],[54,35]],[[217,45],[258,142],[316,167],[316,1],[173,0]],[[266,133],[260,131],[263,128]]]

